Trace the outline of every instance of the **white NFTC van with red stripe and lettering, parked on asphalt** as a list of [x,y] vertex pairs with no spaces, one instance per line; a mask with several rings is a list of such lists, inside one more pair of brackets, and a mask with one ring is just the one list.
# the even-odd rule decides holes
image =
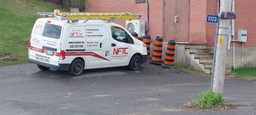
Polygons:
[[146,45],[121,25],[87,20],[71,22],[39,18],[30,37],[28,62],[41,70],[68,71],[128,66],[132,71],[146,62]]

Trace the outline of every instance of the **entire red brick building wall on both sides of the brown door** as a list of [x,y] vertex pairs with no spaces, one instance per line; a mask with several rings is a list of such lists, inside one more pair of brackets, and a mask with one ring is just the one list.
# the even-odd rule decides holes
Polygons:
[[[153,39],[156,36],[163,36],[163,1],[150,0],[150,30],[148,35],[152,36]],[[247,30],[248,36],[247,43],[244,44],[245,47],[256,47],[256,21],[253,20],[256,11],[255,4],[255,0],[236,0],[235,38],[237,38],[237,30]],[[206,23],[206,15],[215,14],[215,10],[217,12],[217,0],[190,0],[189,7],[189,43],[214,46],[217,24]],[[88,12],[134,12],[140,14],[142,20],[146,21],[147,18],[146,3],[136,4],[135,0],[88,0],[86,8],[88,8]],[[113,22],[125,26],[125,20]],[[236,46],[241,46],[241,43],[236,43]]]

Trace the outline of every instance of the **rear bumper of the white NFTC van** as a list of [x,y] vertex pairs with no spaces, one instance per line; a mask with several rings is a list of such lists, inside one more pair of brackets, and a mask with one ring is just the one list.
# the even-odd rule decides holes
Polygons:
[[70,67],[70,64],[59,64],[58,66],[55,66],[55,65],[51,65],[51,64],[46,64],[46,63],[38,62],[38,61],[29,59],[29,58],[28,58],[28,62],[29,63],[33,63],[33,64],[37,64],[37,65],[40,65],[40,66],[45,66],[45,67],[48,67],[48,68],[52,68],[54,70],[68,71],[69,67]]

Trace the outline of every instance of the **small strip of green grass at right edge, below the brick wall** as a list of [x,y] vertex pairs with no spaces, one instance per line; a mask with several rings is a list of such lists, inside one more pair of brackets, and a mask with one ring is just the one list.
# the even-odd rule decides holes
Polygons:
[[238,77],[247,80],[256,80],[256,68],[232,69],[232,73],[238,73]]

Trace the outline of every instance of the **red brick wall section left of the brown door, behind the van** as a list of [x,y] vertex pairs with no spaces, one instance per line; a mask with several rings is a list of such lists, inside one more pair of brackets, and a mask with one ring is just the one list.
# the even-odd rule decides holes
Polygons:
[[[87,12],[133,12],[141,15],[140,19],[146,22],[146,3],[135,3],[135,0],[87,0],[86,2]],[[149,9],[150,29],[147,34],[155,39],[156,36],[163,36],[163,0],[150,0]],[[125,20],[112,22],[125,27]]]

